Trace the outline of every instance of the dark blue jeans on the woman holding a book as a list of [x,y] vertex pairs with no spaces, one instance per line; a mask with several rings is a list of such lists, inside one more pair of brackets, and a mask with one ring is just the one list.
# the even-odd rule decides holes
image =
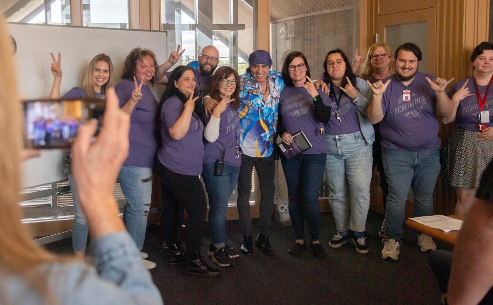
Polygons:
[[305,239],[305,218],[312,241],[319,239],[320,207],[318,189],[324,177],[325,154],[281,156],[289,198],[289,216],[296,239]]

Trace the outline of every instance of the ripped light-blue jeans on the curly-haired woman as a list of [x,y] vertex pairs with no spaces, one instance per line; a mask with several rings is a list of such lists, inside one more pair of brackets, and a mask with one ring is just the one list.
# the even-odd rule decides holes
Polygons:
[[122,166],[118,180],[127,200],[123,221],[128,233],[134,238],[139,251],[144,247],[147,215],[150,197],[153,192],[153,169],[135,166]]

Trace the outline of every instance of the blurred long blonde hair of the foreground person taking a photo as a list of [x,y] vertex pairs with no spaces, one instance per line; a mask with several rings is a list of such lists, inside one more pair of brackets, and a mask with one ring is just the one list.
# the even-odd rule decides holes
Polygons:
[[[35,268],[42,263],[59,260],[37,246],[26,227],[21,223],[20,196],[20,149],[22,146],[22,118],[14,52],[6,24],[0,18],[0,276],[19,274],[39,290],[47,299],[50,293],[46,280]],[[5,278],[5,277],[4,277]],[[5,289],[1,287],[0,289]],[[3,297],[5,298],[5,296]]]

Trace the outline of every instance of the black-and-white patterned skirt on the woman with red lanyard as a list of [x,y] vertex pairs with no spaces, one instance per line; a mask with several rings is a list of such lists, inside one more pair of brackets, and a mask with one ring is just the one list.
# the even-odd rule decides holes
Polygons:
[[477,189],[493,158],[493,140],[478,142],[478,133],[456,127],[447,140],[444,178],[454,188]]

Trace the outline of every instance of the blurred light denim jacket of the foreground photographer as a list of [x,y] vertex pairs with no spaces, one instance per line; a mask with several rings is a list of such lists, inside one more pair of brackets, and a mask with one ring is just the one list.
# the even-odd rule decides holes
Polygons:
[[[83,262],[50,262],[36,275],[46,278],[59,304],[162,304],[134,240],[126,232],[93,241],[94,267]],[[44,297],[24,277],[2,273],[0,302],[45,304]],[[43,301],[44,300],[44,301]]]

